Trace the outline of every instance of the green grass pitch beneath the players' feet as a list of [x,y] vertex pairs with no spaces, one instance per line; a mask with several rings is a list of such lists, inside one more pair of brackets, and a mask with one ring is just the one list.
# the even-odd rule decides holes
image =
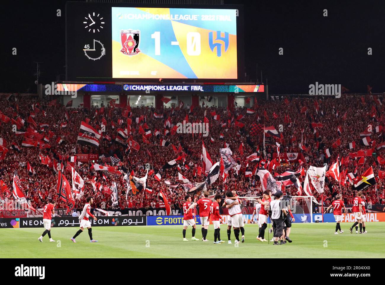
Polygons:
[[[201,226],[191,240],[182,241],[182,226],[93,227],[97,243],[90,243],[87,230],[70,238],[78,228],[52,228],[52,238],[37,240],[44,228],[7,228],[0,230],[0,258],[383,258],[385,222],[367,223],[367,234],[349,232],[352,223],[341,223],[343,234],[335,235],[335,223],[293,223],[290,237],[293,243],[273,246],[256,240],[258,225],[245,225],[244,243],[227,243],[226,225],[221,225],[221,238],[226,243],[213,244],[213,225],[209,226],[209,242],[201,241]],[[265,238],[268,237],[266,232]],[[271,235],[270,235],[271,238]],[[271,250],[274,248],[274,250]]]

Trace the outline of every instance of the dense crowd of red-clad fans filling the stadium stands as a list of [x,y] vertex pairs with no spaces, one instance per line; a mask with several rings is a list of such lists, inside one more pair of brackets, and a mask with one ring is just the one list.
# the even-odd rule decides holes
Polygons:
[[[9,118],[16,119],[20,117],[25,120],[24,127],[20,130],[25,130],[29,123],[27,118],[31,113],[35,113],[33,120],[37,123],[34,127],[39,133],[41,129],[40,123],[47,123],[49,127],[44,128],[44,134],[51,132],[50,148],[40,149],[39,147],[23,147],[23,135],[16,135],[15,130],[12,130],[12,123],[1,122],[0,138],[7,142],[8,152],[0,161],[0,178],[10,189],[10,192],[2,193],[5,198],[12,200],[12,179],[14,171],[20,177],[25,196],[30,199],[34,208],[41,208],[47,203],[48,199],[55,199],[57,202],[56,208],[65,208],[65,203],[59,200],[56,195],[57,189],[57,172],[53,167],[42,165],[39,160],[39,154],[50,157],[58,163],[63,164],[63,172],[70,181],[70,172],[65,167],[67,158],[76,153],[97,153],[105,157],[115,157],[120,159],[117,163],[119,170],[124,173],[134,172],[136,177],[143,177],[146,174],[146,168],[154,170],[154,174],[161,174],[161,181],[158,182],[154,178],[154,174],[147,179],[147,186],[152,187],[152,193],[143,191],[138,195],[127,193],[127,185],[123,180],[123,175],[113,173],[95,171],[91,166],[92,162],[76,163],[75,170],[84,178],[84,181],[96,179],[102,185],[110,187],[112,182],[117,183],[119,193],[118,206],[120,208],[157,208],[162,207],[162,203],[158,198],[158,193],[161,190],[167,193],[171,208],[180,208],[183,204],[186,191],[181,184],[176,187],[168,187],[164,181],[169,180],[172,184],[181,183],[178,180],[178,169],[173,167],[166,170],[161,170],[162,166],[181,155],[173,150],[172,145],[176,148],[181,146],[182,152],[185,155],[185,164],[179,161],[179,172],[184,175],[190,182],[203,182],[205,179],[204,172],[198,175],[198,167],[202,167],[202,141],[208,150],[213,163],[219,161],[219,148],[223,148],[225,143],[229,144],[233,152],[233,158],[241,168],[236,174],[236,170],[229,171],[226,185],[222,178],[209,186],[212,193],[224,194],[225,189],[235,188],[238,195],[259,196],[261,194],[261,183],[257,175],[250,178],[245,177],[246,164],[249,169],[253,170],[258,162],[247,162],[246,157],[255,153],[259,147],[261,159],[272,157],[276,152],[275,141],[271,138],[265,138],[270,144],[266,145],[266,157],[263,152],[263,131],[259,130],[256,134],[251,134],[251,124],[257,123],[261,125],[274,126],[280,130],[283,138],[280,141],[280,152],[302,153],[305,161],[301,163],[302,167],[306,168],[310,165],[321,167],[324,163],[329,166],[335,162],[337,157],[346,158],[349,153],[356,152],[360,149],[369,149],[375,147],[360,145],[360,133],[364,132],[368,125],[372,125],[373,131],[370,136],[375,141],[376,145],[380,145],[384,141],[383,132],[375,132],[375,127],[383,126],[385,121],[384,106],[381,103],[382,98],[373,97],[372,95],[343,95],[342,98],[331,97],[295,97],[288,98],[275,97],[275,100],[264,100],[263,98],[255,101],[253,109],[256,111],[252,115],[246,114],[246,108],[235,107],[233,110],[221,107],[206,107],[195,106],[190,110],[190,107],[185,108],[166,108],[155,109],[152,107],[132,107],[131,106],[131,132],[133,140],[138,142],[140,150],[127,150],[127,145],[122,145],[115,142],[117,128],[127,127],[127,118],[122,117],[122,108],[115,108],[113,102],[108,103],[101,110],[100,108],[83,108],[82,106],[73,106],[65,108],[64,105],[56,103],[50,104],[47,100],[40,100],[37,97],[19,97],[16,100],[0,101],[0,112]],[[378,100],[377,100],[378,99]],[[111,105],[110,105],[111,104]],[[385,104],[385,102],[384,102]],[[186,108],[187,107],[187,108]],[[306,107],[306,108],[304,108]],[[43,112],[45,111],[45,112]],[[65,112],[69,118],[65,117]],[[97,111],[97,112],[96,112]],[[220,116],[220,120],[214,120],[211,112],[215,111]],[[375,112],[374,112],[375,111]],[[163,118],[155,118],[154,112],[163,114]],[[191,133],[171,133],[164,135],[164,121],[166,118],[171,118],[171,123],[176,125],[188,117],[189,122],[203,122],[204,117],[209,120],[209,135],[203,137],[202,134]],[[239,122],[244,123],[243,128],[234,125],[234,121],[239,115],[244,117],[239,119]],[[135,118],[144,116],[145,122],[136,123]],[[87,145],[77,144],[78,130],[80,123],[89,119],[89,124],[100,129],[102,118],[107,121],[104,135],[107,135],[111,140],[100,139],[99,148],[90,147]],[[119,119],[123,119],[123,123],[119,125]],[[112,122],[115,127],[112,128]],[[66,123],[66,127],[61,124]],[[151,137],[149,142],[143,142],[142,134],[138,133],[139,126],[147,124],[151,129]],[[222,123],[226,123],[223,126]],[[321,123],[322,127],[313,128],[311,123]],[[337,127],[341,127],[341,134],[337,132]],[[18,129],[19,130],[19,129]],[[154,135],[155,130],[160,131],[160,136]],[[170,128],[167,127],[167,130]],[[223,139],[220,139],[220,134],[223,134]],[[63,142],[56,142],[57,138],[61,137]],[[170,145],[162,147],[159,143],[160,138],[167,140]],[[340,146],[332,148],[332,144],[340,139]],[[214,140],[214,142],[212,142]],[[300,144],[305,146],[305,150],[300,147]],[[348,144],[355,142],[355,149],[349,149]],[[20,151],[11,149],[10,146],[15,143],[20,148]],[[243,143],[243,155],[239,151],[240,144]],[[326,158],[325,150],[330,148],[333,150],[331,157]],[[348,169],[349,172],[355,172],[358,167],[357,175],[362,174],[370,166],[373,167],[377,177],[378,170],[383,170],[383,165],[377,161],[377,156],[383,157],[384,148],[374,148],[373,156],[366,157],[364,165],[358,165],[359,158],[352,158],[348,163],[341,166],[341,171]],[[35,170],[36,174],[27,171],[27,162]],[[97,162],[103,164],[100,161]],[[346,165],[347,164],[347,165]],[[297,170],[300,163],[291,163],[290,165],[281,164],[273,170],[273,173],[282,173],[286,169]],[[105,178],[102,177],[104,173]],[[194,175],[195,174],[195,175]],[[273,174],[274,175],[274,174]],[[300,177],[303,183],[304,177]],[[384,183],[382,179],[378,179],[377,187],[369,187],[364,191],[364,200],[368,204],[385,204]],[[290,186],[285,189],[286,193],[297,195],[298,191],[295,187]],[[323,205],[330,205],[337,193],[342,193],[345,204],[349,205],[355,197],[355,191],[350,183],[341,186],[330,177],[325,180],[325,192],[323,193]],[[88,195],[95,197],[95,207],[110,208],[112,207],[111,196],[102,192],[94,191],[89,183],[85,183],[84,195],[79,200],[75,199],[75,208],[80,208],[85,203],[85,198]],[[304,193],[302,195],[305,195]],[[321,196],[314,190],[313,195],[321,202]]]

